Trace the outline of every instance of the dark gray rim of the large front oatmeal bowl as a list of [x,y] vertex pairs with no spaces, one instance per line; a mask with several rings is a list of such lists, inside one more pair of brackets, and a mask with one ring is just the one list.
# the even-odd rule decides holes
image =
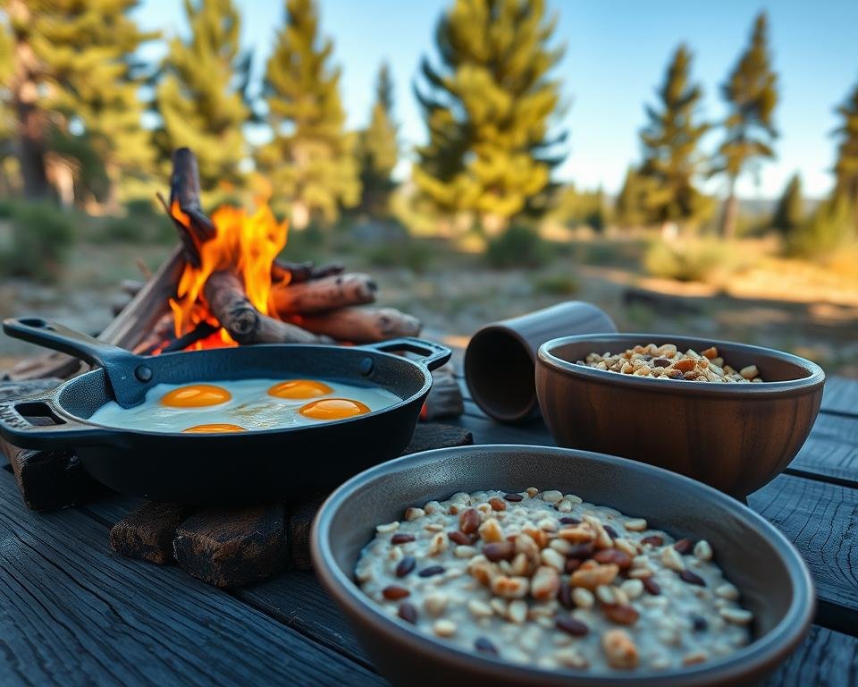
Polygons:
[[[407,623],[400,623],[392,619],[389,615],[383,614],[374,602],[357,588],[352,578],[341,572],[333,557],[330,528],[333,513],[337,511],[339,505],[348,499],[354,491],[371,485],[374,481],[383,478],[385,475],[431,465],[437,458],[445,455],[467,454],[475,451],[494,451],[501,454],[519,453],[523,450],[538,451],[557,456],[574,455],[586,460],[609,462],[616,464],[624,471],[660,474],[661,477],[676,480],[678,482],[677,487],[702,492],[702,498],[708,497],[711,506],[735,514],[744,522],[746,527],[757,530],[759,534],[769,539],[772,546],[778,551],[781,560],[787,568],[794,592],[787,613],[770,632],[754,639],[746,647],[736,650],[734,654],[713,660],[711,663],[687,666],[681,670],[673,671],[642,670],[635,674],[608,673],[594,675],[576,670],[552,671],[526,668],[502,661],[499,658],[480,657],[462,649],[453,649],[443,644],[440,640],[434,640],[422,632],[417,632],[416,629],[411,628]],[[486,488],[492,488],[492,486],[489,485]],[[454,493],[455,490],[455,485],[451,485],[450,494]],[[348,606],[350,611],[360,615],[366,623],[374,627],[376,632],[383,632],[385,634],[398,632],[402,641],[416,644],[422,653],[441,657],[447,662],[454,664],[462,664],[472,670],[479,670],[486,677],[500,680],[501,684],[516,683],[517,680],[549,678],[558,681],[574,678],[578,684],[593,685],[593,687],[607,687],[607,685],[616,683],[639,684],[642,686],[645,684],[649,687],[661,684],[682,684],[689,685],[690,687],[694,687],[697,684],[730,684],[733,680],[743,677],[753,669],[761,668],[770,662],[776,661],[778,657],[781,657],[785,648],[793,649],[803,639],[807,626],[812,622],[816,606],[813,581],[802,556],[777,528],[762,518],[761,515],[754,513],[747,506],[740,504],[736,499],[722,494],[717,489],[711,488],[702,482],[676,472],[657,468],[653,465],[630,461],[615,455],[597,454],[592,451],[579,451],[577,449],[557,448],[553,446],[516,444],[457,446],[424,451],[383,462],[344,482],[331,496],[325,499],[313,522],[310,548],[315,573],[323,581],[324,586],[332,592],[332,596],[339,604]]]

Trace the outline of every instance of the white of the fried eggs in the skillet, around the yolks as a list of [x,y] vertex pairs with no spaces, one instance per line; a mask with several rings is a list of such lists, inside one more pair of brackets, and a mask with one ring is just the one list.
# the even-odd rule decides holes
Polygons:
[[[297,377],[304,378],[304,377]],[[90,422],[106,427],[142,429],[156,432],[181,432],[196,425],[229,423],[248,430],[286,428],[313,425],[330,420],[315,420],[299,413],[299,409],[323,398],[348,398],[365,403],[370,411],[380,411],[401,401],[400,397],[380,386],[355,386],[316,379],[331,387],[330,394],[312,398],[279,398],[268,394],[275,384],[287,379],[206,380],[186,384],[159,384],[146,394],[143,403],[122,408],[119,403],[105,403],[89,418]],[[226,403],[200,408],[175,408],[161,403],[164,394],[182,386],[206,384],[226,389],[232,398]]]

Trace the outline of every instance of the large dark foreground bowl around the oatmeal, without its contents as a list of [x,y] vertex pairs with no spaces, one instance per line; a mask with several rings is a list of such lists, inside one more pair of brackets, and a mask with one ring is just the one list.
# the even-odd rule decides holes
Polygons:
[[[753,612],[753,641],[728,657],[681,669],[593,673],[536,670],[455,649],[391,616],[357,588],[355,564],[375,525],[399,520],[457,491],[556,488],[641,516],[676,537],[705,537]],[[811,623],[813,583],[783,534],[736,499],[641,462],[564,448],[475,445],[384,462],[349,479],[316,515],[311,536],[319,580],[357,640],[394,685],[703,687],[757,684],[801,642]]]

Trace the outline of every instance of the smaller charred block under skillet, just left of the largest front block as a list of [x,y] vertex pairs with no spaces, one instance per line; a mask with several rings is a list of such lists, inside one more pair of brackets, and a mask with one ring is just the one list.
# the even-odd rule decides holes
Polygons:
[[192,509],[186,505],[147,501],[111,528],[110,548],[120,556],[159,565],[171,563],[172,540],[190,513]]

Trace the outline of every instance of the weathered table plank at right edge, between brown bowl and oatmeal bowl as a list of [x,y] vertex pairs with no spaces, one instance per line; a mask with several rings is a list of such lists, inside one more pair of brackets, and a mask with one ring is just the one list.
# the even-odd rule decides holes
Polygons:
[[820,600],[818,622],[858,633],[858,489],[780,475],[748,502],[810,567]]

